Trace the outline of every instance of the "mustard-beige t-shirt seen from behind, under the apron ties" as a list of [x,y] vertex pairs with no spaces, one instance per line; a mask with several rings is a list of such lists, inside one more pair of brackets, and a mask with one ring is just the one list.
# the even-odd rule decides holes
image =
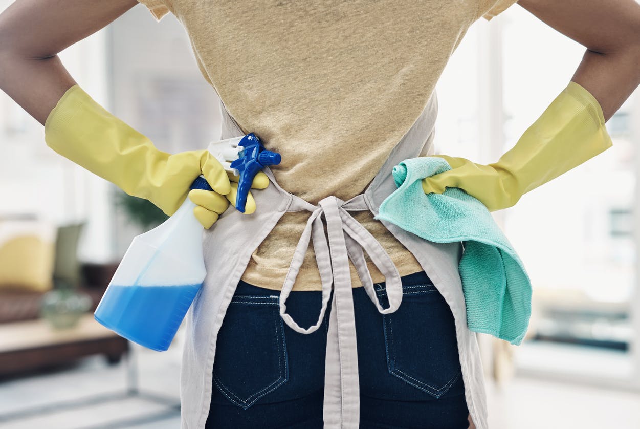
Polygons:
[[[278,184],[317,204],[365,190],[426,106],[468,27],[516,0],[138,1],[156,20],[177,17],[230,115],[282,155],[271,166]],[[371,213],[351,215],[400,275],[422,271]],[[285,213],[242,279],[281,289],[308,216]],[[383,282],[365,257],[373,281]],[[315,258],[310,246],[294,290],[321,289]],[[349,266],[351,283],[362,286]]]

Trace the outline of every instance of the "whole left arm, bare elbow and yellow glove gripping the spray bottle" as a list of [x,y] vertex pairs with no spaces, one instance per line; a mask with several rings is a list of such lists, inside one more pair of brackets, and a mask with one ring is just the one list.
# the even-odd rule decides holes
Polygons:
[[[229,203],[236,205],[235,176],[208,150],[168,154],[115,117],[77,85],[58,53],[127,12],[137,0],[17,0],[0,13],[0,89],[45,125],[45,142],[58,154],[146,198],[173,215],[189,198],[205,228]],[[203,174],[213,192],[189,191]],[[252,188],[269,178],[259,172]],[[244,213],[255,211],[247,194]]]

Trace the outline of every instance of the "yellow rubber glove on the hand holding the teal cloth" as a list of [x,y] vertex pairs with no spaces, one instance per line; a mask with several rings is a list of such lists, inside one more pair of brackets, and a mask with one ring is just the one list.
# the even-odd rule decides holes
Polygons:
[[496,162],[447,160],[451,170],[422,179],[425,193],[461,188],[489,211],[514,206],[525,193],[595,157],[613,143],[598,101],[570,81],[516,145]]

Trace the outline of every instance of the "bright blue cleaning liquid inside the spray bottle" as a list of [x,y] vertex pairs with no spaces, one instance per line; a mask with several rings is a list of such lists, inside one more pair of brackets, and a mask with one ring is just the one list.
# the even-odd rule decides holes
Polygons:
[[109,285],[95,320],[116,334],[158,352],[169,348],[202,284],[184,286]]

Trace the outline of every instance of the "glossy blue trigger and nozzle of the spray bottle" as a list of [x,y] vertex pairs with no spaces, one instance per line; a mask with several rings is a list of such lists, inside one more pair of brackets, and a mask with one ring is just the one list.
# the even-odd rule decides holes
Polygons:
[[253,133],[246,134],[240,140],[238,146],[244,148],[242,156],[231,163],[231,168],[236,168],[240,174],[236,194],[236,209],[244,213],[246,198],[248,197],[253,177],[268,165],[280,164],[282,158],[278,152],[264,149],[258,136]]

